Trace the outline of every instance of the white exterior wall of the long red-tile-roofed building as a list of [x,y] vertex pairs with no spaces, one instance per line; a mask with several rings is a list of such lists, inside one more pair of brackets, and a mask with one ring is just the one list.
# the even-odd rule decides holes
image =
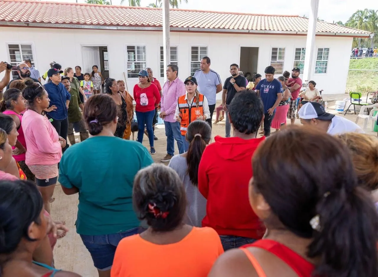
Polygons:
[[[41,75],[49,68],[52,60],[60,63],[63,68],[82,65],[81,46],[107,46],[109,75],[116,80],[123,80],[123,72],[127,72],[126,46],[145,45],[147,67],[152,68],[155,77],[163,82],[163,78],[160,78],[159,57],[160,46],[163,46],[162,32],[0,27],[0,33],[0,60],[9,60],[7,43],[32,43],[36,68]],[[295,48],[304,48],[306,37],[171,32],[170,42],[172,46],[178,46],[178,75],[181,80],[190,75],[191,46],[203,45],[208,46],[211,68],[220,74],[223,81],[229,77],[229,65],[239,64],[241,46],[259,47],[257,72],[262,75],[265,67],[270,65],[271,48],[285,47],[283,67],[284,70],[291,71]],[[313,51],[317,51],[317,48],[330,49],[327,73],[311,72],[310,77],[317,83],[317,88],[324,89],[324,94],[345,92],[351,46],[352,38],[349,37],[316,37]],[[137,82],[137,78],[127,80],[130,93]],[[221,93],[218,98],[220,96]]]

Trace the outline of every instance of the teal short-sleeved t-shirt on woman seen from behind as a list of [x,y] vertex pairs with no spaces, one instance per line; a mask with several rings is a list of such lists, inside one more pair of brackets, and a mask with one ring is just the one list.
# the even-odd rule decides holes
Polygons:
[[118,137],[90,137],[68,148],[60,160],[59,182],[79,189],[77,233],[105,235],[138,227],[133,181],[152,163],[141,143]]

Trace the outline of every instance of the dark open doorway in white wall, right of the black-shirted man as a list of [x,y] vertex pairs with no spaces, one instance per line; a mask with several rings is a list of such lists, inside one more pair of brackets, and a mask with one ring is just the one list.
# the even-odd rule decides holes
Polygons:
[[259,58],[258,47],[240,47],[240,70],[248,82],[254,82],[254,75],[257,73],[257,60]]

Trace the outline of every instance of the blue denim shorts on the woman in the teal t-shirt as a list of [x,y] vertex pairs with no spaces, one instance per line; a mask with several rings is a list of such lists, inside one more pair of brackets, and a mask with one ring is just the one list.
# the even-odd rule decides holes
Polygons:
[[80,235],[85,247],[92,256],[93,264],[100,271],[112,268],[118,243],[124,237],[139,233],[139,227],[122,233],[109,235]]

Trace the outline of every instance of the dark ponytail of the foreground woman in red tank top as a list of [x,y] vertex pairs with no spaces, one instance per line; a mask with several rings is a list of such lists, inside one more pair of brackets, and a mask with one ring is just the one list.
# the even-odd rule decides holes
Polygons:
[[320,258],[314,276],[378,276],[378,216],[369,193],[326,192],[316,211],[319,231],[308,248],[308,257]]

